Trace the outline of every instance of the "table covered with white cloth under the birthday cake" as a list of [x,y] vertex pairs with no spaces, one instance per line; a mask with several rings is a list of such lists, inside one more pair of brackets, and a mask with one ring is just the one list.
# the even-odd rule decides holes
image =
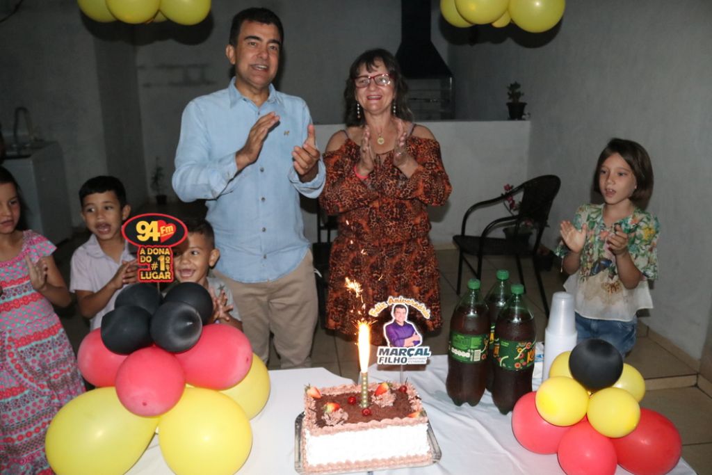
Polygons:
[[[541,377],[535,365],[535,387]],[[294,421],[303,410],[304,386],[328,387],[351,383],[324,368],[270,371],[271,393],[266,407],[252,419],[253,445],[239,475],[295,474]],[[511,414],[499,413],[488,392],[476,407],[457,407],[445,391],[447,357],[431,357],[424,371],[405,371],[404,377],[417,388],[442,451],[438,464],[417,469],[378,471],[381,475],[446,474],[563,474],[556,455],[534,454],[516,441]],[[369,370],[370,382],[398,381],[398,371]],[[171,475],[163,461],[157,437],[128,472],[130,475]],[[629,474],[618,467],[617,475]],[[670,475],[694,475],[684,461]]]

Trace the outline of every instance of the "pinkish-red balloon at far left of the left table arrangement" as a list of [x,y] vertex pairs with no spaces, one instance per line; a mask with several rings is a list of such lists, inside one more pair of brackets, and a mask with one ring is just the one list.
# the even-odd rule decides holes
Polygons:
[[79,345],[77,363],[85,380],[96,387],[113,386],[116,372],[126,355],[113,353],[101,340],[101,329],[96,328],[84,337]]

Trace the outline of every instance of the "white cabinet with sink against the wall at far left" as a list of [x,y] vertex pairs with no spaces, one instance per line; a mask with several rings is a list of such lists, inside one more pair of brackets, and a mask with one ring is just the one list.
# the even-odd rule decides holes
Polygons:
[[57,244],[72,236],[69,195],[62,150],[57,142],[33,149],[29,157],[6,158],[2,164],[17,180],[30,229]]

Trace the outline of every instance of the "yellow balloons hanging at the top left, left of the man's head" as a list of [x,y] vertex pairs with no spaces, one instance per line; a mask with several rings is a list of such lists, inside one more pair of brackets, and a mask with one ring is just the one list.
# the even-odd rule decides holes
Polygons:
[[77,0],[79,9],[94,21],[130,24],[174,21],[195,25],[210,12],[210,0]]

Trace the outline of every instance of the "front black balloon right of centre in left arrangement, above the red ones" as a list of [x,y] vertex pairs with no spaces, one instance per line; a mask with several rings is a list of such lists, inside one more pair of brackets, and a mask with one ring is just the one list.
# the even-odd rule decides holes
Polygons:
[[184,302],[164,302],[151,318],[151,336],[156,345],[181,353],[198,343],[203,330],[198,310]]

